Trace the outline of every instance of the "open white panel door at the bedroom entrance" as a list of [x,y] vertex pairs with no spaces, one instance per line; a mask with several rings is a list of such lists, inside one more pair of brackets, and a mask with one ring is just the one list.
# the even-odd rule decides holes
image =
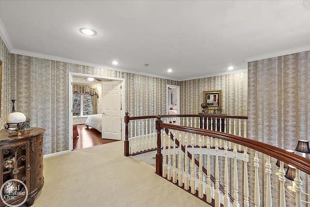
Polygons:
[[121,81],[102,82],[102,139],[122,139]]

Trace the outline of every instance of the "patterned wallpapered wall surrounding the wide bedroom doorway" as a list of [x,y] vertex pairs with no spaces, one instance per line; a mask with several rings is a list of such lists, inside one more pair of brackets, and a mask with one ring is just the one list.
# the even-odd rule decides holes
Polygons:
[[130,116],[165,113],[167,84],[180,84],[179,81],[11,54],[9,97],[17,100],[16,111],[25,113],[31,119],[31,126],[47,129],[44,154],[68,150],[69,72],[125,79],[124,109]]

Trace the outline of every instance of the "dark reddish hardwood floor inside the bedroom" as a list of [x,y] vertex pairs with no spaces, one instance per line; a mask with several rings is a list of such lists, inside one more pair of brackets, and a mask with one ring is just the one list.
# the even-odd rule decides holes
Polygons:
[[83,149],[105,143],[117,142],[118,140],[101,139],[101,133],[92,128],[80,124],[78,127],[78,138],[73,139],[73,150]]

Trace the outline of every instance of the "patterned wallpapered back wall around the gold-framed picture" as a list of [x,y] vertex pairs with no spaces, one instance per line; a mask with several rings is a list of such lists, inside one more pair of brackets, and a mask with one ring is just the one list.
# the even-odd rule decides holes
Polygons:
[[222,114],[247,116],[247,72],[182,81],[181,113],[197,114],[201,112],[203,91],[219,90],[222,91]]

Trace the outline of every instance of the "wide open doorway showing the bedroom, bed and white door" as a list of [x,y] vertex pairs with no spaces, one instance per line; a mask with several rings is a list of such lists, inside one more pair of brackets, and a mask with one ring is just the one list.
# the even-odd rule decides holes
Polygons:
[[124,138],[124,86],[124,79],[69,73],[69,152]]

